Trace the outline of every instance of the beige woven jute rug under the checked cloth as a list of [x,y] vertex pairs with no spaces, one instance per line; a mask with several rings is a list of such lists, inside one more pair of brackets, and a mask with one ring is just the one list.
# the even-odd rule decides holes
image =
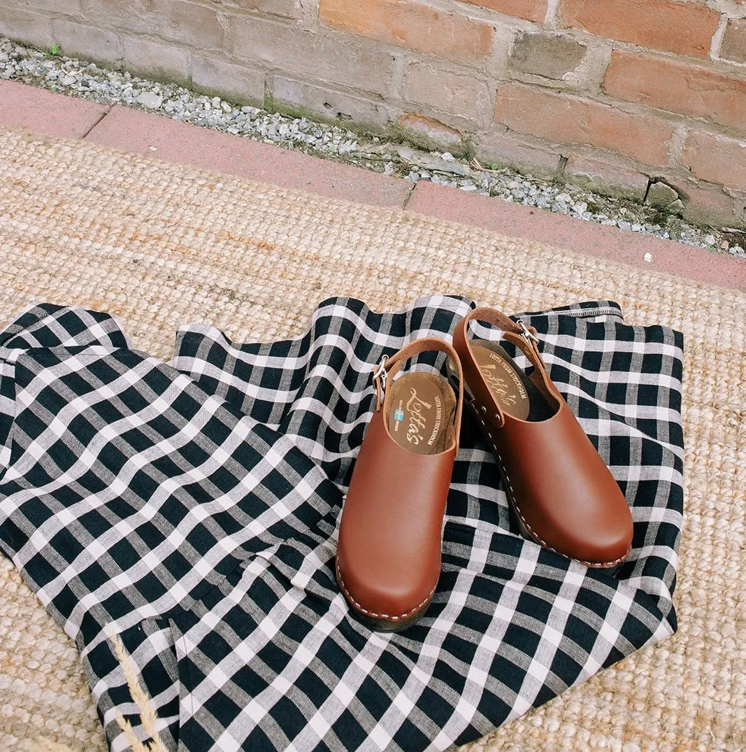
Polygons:
[[[383,310],[431,293],[509,312],[614,299],[628,323],[680,329],[686,348],[678,633],[463,749],[746,747],[746,294],[0,131],[0,325],[38,299],[83,305],[168,358],[186,322],[269,341],[301,332],[328,296]],[[38,736],[106,746],[74,645],[0,557],[0,749]]]

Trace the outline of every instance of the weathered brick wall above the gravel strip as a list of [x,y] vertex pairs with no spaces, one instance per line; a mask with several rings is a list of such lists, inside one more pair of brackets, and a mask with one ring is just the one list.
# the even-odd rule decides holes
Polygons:
[[0,34],[746,226],[746,0],[0,0]]

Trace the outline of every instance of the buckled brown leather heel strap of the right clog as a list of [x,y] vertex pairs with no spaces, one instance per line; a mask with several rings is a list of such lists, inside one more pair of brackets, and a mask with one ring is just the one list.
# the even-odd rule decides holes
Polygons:
[[483,414],[486,414],[491,422],[494,422],[495,426],[502,428],[505,423],[505,416],[500,409],[500,405],[497,404],[492,390],[482,377],[482,371],[479,370],[479,365],[477,365],[476,357],[469,341],[468,328],[472,320],[484,321],[494,326],[499,326],[503,330],[503,336],[506,340],[515,344],[536,368],[536,371],[531,374],[532,380],[536,381],[536,378],[539,378],[551,393],[555,393],[556,390],[548,377],[541,353],[539,352],[539,338],[536,336],[536,329],[533,326],[526,326],[522,321],[516,323],[505,314],[500,313],[500,311],[495,311],[494,308],[475,308],[456,325],[456,330],[453,333],[453,344],[458,356],[461,358],[461,365],[464,368],[469,389],[474,401],[479,405],[479,410]]

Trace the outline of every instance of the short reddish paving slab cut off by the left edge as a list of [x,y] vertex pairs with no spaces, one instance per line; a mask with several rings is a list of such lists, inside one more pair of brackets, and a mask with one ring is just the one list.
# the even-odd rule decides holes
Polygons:
[[110,108],[17,81],[0,80],[0,125],[83,138]]

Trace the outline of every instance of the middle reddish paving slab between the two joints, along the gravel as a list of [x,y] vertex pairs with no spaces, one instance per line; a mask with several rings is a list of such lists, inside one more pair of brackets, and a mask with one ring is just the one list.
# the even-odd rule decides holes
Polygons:
[[408,180],[119,106],[86,141],[363,204],[401,207],[412,192]]

